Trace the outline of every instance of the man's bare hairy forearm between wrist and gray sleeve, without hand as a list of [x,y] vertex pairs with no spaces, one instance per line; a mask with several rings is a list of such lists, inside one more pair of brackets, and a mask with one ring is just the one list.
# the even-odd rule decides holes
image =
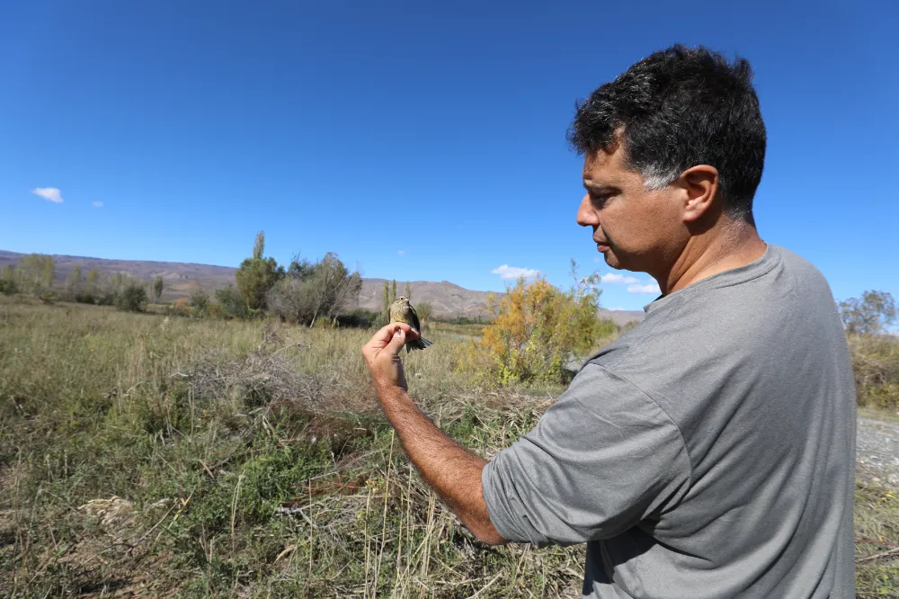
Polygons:
[[481,486],[486,460],[443,434],[402,389],[378,389],[378,397],[415,468],[468,530],[486,543],[505,542],[487,512]]

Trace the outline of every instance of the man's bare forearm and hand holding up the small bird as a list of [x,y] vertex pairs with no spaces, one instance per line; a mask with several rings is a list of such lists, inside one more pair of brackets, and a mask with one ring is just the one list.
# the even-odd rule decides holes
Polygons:
[[399,352],[417,336],[403,323],[387,325],[362,348],[378,399],[396,429],[409,459],[468,530],[485,543],[506,542],[490,522],[481,473],[486,460],[462,447],[435,426],[406,393]]

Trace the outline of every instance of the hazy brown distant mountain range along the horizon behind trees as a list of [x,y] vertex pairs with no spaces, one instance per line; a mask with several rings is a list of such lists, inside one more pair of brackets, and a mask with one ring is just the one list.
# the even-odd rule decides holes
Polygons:
[[[7,264],[17,264],[22,254],[0,250],[0,269]],[[234,284],[236,268],[191,264],[182,262],[151,262],[147,260],[105,260],[76,255],[53,255],[56,262],[56,282],[62,284],[77,264],[81,265],[83,276],[96,268],[102,276],[113,273],[127,273],[141,281],[151,282],[162,275],[163,299],[189,298],[196,291],[212,293],[220,287]],[[409,283],[413,303],[430,301],[433,313],[439,317],[486,316],[489,291],[471,291],[448,282],[414,281]],[[384,279],[362,279],[359,294],[360,308],[379,310],[384,291]],[[405,292],[405,282],[396,282],[396,293]],[[599,309],[599,316],[611,318],[616,324],[643,320],[642,311]]]

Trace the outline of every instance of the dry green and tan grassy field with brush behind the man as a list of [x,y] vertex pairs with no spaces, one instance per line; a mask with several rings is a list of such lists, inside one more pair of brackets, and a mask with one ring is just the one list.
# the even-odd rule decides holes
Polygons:
[[[434,326],[405,365],[489,456],[561,389],[476,389],[473,334]],[[486,547],[423,485],[368,336],[0,299],[0,595],[578,596],[583,548]],[[857,528],[860,557],[894,549],[895,490],[859,485]],[[859,564],[859,595],[899,596],[895,563]]]

